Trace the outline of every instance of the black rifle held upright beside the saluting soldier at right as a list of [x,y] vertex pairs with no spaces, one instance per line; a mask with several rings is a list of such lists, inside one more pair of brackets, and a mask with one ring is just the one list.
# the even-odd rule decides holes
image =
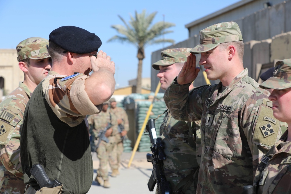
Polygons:
[[148,189],[150,191],[154,191],[154,187],[157,184],[157,193],[158,194],[171,194],[171,186],[170,182],[166,181],[166,177],[163,170],[163,160],[166,159],[164,153],[164,143],[162,142],[162,138],[157,138],[155,120],[150,119],[145,127],[146,131],[144,134],[148,134],[150,136],[150,143],[152,143],[152,147],[150,150],[152,154],[146,154],[146,158],[148,162],[152,163],[152,175],[150,176],[150,180],[148,181]]

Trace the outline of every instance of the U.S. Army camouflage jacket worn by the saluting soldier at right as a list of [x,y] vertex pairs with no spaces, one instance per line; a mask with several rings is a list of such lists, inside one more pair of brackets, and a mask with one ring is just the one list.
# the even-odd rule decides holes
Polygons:
[[202,161],[197,193],[240,193],[252,185],[259,159],[281,136],[280,122],[267,101],[269,92],[240,72],[219,94],[222,84],[167,88],[164,100],[178,120],[201,120]]

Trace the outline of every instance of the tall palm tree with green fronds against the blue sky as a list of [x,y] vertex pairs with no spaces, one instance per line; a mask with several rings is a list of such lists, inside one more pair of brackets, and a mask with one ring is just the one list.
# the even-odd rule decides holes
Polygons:
[[132,17],[132,15],[130,15],[130,21],[128,24],[120,15],[118,15],[118,17],[124,23],[124,26],[118,24],[112,25],[111,27],[113,29],[116,29],[117,32],[121,34],[121,36],[115,35],[107,41],[112,42],[113,40],[118,40],[122,43],[128,42],[137,47],[137,58],[139,60],[139,63],[136,79],[136,93],[141,93],[141,73],[143,59],[145,58],[144,48],[148,45],[158,44],[162,42],[174,43],[173,39],[163,39],[159,37],[166,33],[173,32],[165,31],[165,29],[175,26],[175,24],[169,22],[157,22],[151,26],[152,20],[154,19],[156,14],[157,12],[147,15],[145,13],[145,10],[143,10],[141,14],[138,14],[135,11],[135,17]]

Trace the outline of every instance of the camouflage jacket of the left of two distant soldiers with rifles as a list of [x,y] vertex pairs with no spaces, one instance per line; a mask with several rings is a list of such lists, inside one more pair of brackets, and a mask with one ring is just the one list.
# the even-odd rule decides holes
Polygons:
[[119,135],[117,130],[117,119],[114,114],[111,114],[108,109],[106,112],[101,111],[99,114],[88,116],[88,123],[90,128],[92,128],[95,138],[97,138],[98,133],[103,130],[108,123],[111,123],[112,133],[108,137],[110,143],[116,142],[116,138]]

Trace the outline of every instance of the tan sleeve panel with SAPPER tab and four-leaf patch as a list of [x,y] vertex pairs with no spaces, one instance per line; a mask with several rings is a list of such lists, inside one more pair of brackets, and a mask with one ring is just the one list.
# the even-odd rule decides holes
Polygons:
[[260,105],[256,116],[253,141],[267,146],[273,146],[277,141],[279,130],[280,122],[273,119],[272,109],[265,105]]

